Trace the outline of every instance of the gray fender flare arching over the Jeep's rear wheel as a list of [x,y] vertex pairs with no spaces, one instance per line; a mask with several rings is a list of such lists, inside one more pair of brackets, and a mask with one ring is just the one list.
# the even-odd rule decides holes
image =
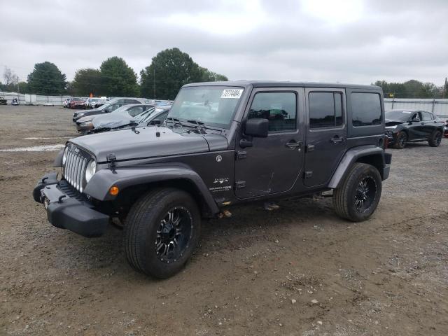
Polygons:
[[356,162],[359,158],[378,154],[381,155],[381,158],[383,158],[383,167],[385,167],[384,149],[381,147],[367,145],[351,148],[349,149],[349,151],[346,151],[346,153],[342,157],[342,160],[339,162],[339,165],[337,166],[337,169],[335,170],[335,173],[333,174],[330,182],[328,183],[328,188],[337,188],[339,184],[344,181],[351,165],[353,165],[353,163]]

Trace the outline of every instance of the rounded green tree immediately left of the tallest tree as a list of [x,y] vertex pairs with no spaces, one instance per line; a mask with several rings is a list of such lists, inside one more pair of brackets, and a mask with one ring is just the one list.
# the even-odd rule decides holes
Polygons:
[[135,97],[139,94],[137,74],[123,58],[110,57],[100,66],[102,93],[109,97]]

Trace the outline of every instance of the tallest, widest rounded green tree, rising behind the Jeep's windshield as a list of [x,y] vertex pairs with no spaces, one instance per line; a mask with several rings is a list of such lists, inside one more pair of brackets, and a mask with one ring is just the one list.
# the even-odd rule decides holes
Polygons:
[[140,72],[141,95],[174,99],[182,85],[200,82],[200,67],[179,48],[166,49],[153,57],[151,65]]

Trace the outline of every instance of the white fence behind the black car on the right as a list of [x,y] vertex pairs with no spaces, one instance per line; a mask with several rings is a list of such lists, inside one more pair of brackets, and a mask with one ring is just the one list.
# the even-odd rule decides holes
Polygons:
[[428,111],[448,118],[448,99],[384,98],[384,108]]

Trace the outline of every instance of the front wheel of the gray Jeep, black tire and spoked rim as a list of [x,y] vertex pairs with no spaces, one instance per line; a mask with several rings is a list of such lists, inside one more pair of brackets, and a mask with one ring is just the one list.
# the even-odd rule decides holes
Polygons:
[[[172,216],[176,216],[174,211],[179,213],[179,218],[182,215],[179,223],[186,229],[183,236],[176,236],[178,227],[173,224],[174,220],[168,229],[165,228],[171,223]],[[199,243],[200,230],[200,211],[188,193],[175,188],[152,190],[131,207],[125,219],[126,258],[137,271],[166,279],[186,264]],[[165,235],[163,242],[161,235]],[[177,245],[174,244],[175,236],[179,239]]]

